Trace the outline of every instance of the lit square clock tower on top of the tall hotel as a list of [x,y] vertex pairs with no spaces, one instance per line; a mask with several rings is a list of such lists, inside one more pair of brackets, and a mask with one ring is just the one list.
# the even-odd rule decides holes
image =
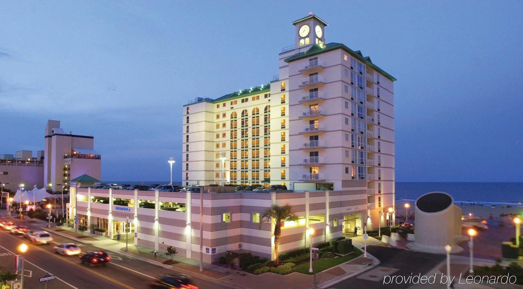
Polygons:
[[309,15],[307,17],[298,19],[292,24],[296,27],[296,39],[294,45],[299,52],[303,48],[309,49],[312,44],[325,44],[325,26],[328,24],[317,17],[316,15]]

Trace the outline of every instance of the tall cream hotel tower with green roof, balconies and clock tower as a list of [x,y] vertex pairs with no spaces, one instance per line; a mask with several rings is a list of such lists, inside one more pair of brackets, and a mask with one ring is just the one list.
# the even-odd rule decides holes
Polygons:
[[[394,206],[394,77],[315,15],[292,22],[279,76],[183,108],[184,185],[366,190],[375,218]],[[223,172],[223,173],[222,173]]]

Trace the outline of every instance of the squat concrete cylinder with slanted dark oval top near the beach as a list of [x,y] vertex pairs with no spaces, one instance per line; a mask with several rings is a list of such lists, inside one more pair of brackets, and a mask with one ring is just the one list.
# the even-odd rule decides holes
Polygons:
[[416,225],[414,243],[407,247],[416,251],[451,254],[463,251],[455,239],[461,237],[461,208],[446,192],[434,191],[420,196],[414,206]]

